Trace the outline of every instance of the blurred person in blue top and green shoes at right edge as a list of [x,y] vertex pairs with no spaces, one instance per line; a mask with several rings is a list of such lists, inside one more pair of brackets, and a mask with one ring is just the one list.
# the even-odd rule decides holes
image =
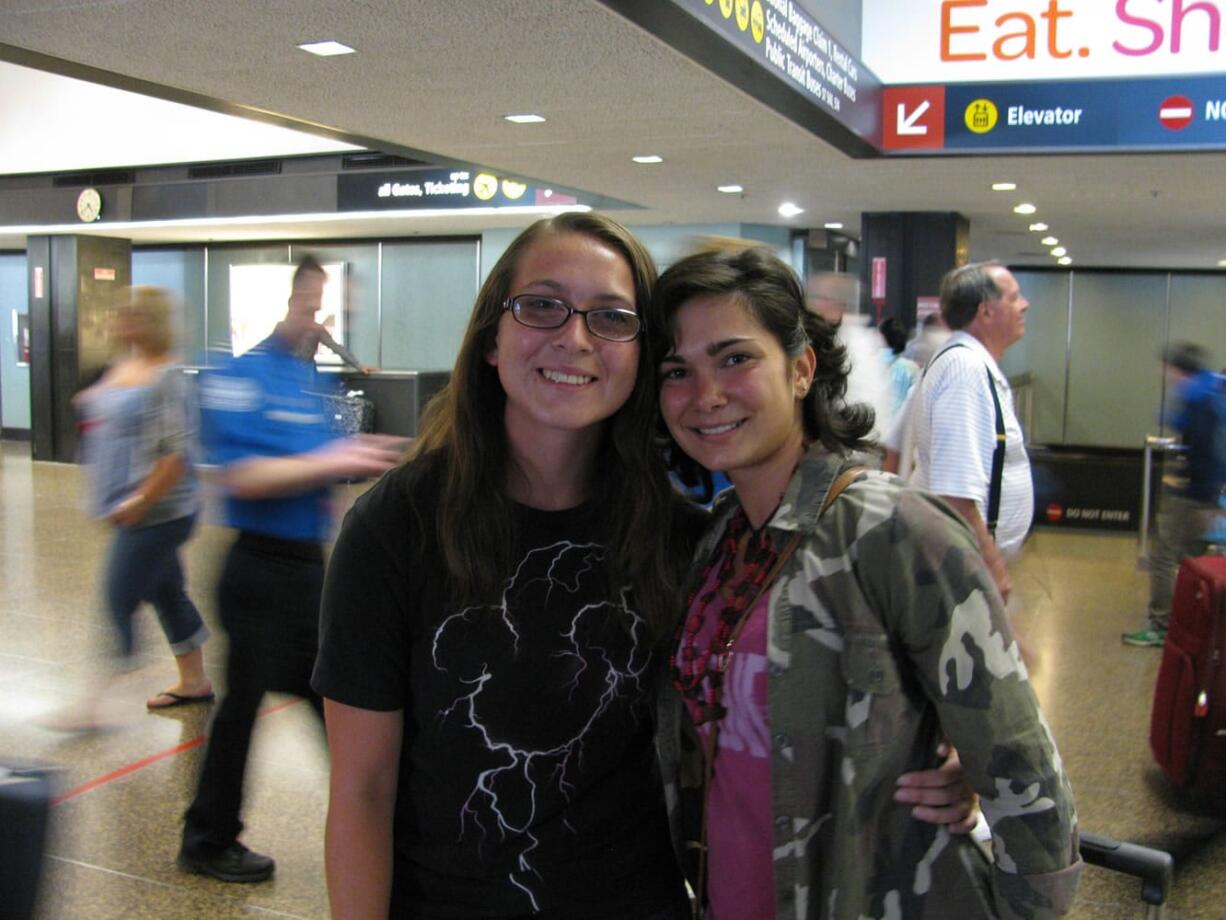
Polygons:
[[1209,355],[1193,342],[1176,342],[1162,353],[1168,423],[1183,447],[1182,469],[1162,477],[1148,623],[1121,637],[1128,645],[1162,645],[1179,564],[1208,551],[1217,523],[1226,487],[1226,375],[1208,364]]

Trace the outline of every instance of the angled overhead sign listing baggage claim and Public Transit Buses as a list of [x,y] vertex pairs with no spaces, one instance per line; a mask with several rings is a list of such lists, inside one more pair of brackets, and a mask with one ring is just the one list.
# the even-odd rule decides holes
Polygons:
[[880,145],[877,76],[796,0],[602,2],[841,150]]

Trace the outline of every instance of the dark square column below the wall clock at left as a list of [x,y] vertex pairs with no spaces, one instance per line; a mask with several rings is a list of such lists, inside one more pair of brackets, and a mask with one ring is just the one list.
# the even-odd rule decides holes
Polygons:
[[31,454],[75,462],[71,399],[109,358],[107,314],[132,282],[132,244],[109,237],[29,237]]

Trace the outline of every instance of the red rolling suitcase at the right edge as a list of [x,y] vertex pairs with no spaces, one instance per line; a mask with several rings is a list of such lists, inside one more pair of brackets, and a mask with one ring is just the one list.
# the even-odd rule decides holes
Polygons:
[[1182,788],[1226,792],[1226,557],[1184,559],[1154,693],[1150,747]]

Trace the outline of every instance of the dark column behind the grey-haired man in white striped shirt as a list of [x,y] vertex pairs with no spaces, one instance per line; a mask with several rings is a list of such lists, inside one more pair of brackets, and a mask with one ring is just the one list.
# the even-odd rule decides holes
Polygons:
[[[940,293],[942,276],[970,258],[970,222],[953,211],[862,215],[861,283],[874,320],[897,316],[908,329],[915,326],[917,298]],[[879,301],[873,297],[878,259],[885,260],[885,289]]]

